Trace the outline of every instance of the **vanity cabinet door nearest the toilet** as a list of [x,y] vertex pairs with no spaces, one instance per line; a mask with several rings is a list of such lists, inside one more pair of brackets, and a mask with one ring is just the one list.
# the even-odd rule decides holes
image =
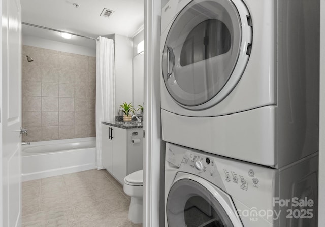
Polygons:
[[112,127],[112,174],[124,184],[126,176],[126,130]]

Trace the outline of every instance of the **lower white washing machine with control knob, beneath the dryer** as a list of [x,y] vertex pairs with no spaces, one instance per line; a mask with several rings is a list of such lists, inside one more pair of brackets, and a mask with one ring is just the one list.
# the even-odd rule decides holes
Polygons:
[[317,226],[317,154],[273,169],[167,143],[165,164],[165,227]]

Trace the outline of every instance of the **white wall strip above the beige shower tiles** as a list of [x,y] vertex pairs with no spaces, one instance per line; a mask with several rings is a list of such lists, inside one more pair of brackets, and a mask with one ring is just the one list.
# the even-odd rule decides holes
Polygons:
[[83,46],[78,46],[73,44],[67,44],[63,42],[57,42],[53,40],[42,39],[30,35],[22,35],[23,45],[96,57],[96,41],[94,40],[93,43],[94,43],[94,47],[89,48],[89,47],[83,47]]

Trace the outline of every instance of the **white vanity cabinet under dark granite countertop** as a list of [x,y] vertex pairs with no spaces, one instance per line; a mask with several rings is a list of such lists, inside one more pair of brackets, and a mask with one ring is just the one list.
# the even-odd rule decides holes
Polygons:
[[125,176],[143,169],[142,132],[102,124],[102,163],[121,184]]

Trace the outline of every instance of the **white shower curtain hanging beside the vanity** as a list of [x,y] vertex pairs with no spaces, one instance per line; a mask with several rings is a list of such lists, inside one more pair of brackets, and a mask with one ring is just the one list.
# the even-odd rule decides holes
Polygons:
[[96,164],[102,164],[102,121],[115,116],[115,59],[114,41],[99,37],[96,42]]

